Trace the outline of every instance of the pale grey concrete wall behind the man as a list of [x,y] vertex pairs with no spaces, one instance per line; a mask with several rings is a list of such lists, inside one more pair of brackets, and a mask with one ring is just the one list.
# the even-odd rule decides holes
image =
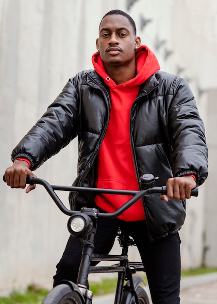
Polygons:
[[[0,0],[0,172],[18,141],[67,80],[92,68],[101,18],[121,9],[161,69],[190,84],[206,129],[209,177],[187,202],[180,235],[183,269],[217,267],[217,1]],[[76,177],[74,140],[35,174],[70,186]],[[0,294],[30,284],[52,286],[69,236],[67,216],[37,186],[28,195],[0,182]],[[67,194],[61,196],[67,203]],[[131,253],[139,259],[136,249]]]

